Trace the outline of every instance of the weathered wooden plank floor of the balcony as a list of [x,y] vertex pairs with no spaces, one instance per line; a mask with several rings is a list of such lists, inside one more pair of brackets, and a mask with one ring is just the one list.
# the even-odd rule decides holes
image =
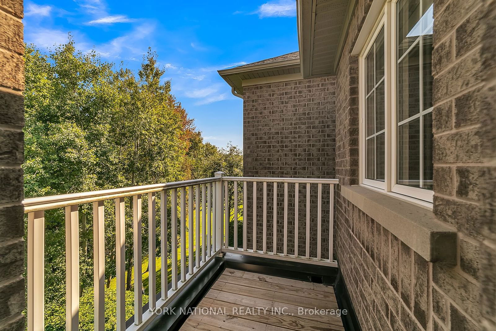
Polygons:
[[226,269],[181,330],[344,331],[341,317],[315,308],[338,309],[332,286]]

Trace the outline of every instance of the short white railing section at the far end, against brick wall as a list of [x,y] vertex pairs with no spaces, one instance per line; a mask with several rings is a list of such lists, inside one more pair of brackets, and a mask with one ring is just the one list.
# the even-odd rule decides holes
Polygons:
[[[252,256],[265,256],[271,259],[279,259],[279,260],[289,260],[289,261],[295,261],[298,260],[299,262],[303,263],[310,263],[310,264],[317,264],[317,265],[331,265],[331,266],[337,266],[336,261],[333,259],[333,225],[334,225],[334,185],[338,184],[339,181],[337,179],[314,179],[314,178],[260,178],[260,177],[222,177],[222,183],[224,183],[224,197],[229,197],[228,192],[229,192],[229,183],[232,184],[232,191],[234,191],[234,198],[233,201],[230,199],[225,199],[224,200],[224,220],[225,220],[225,228],[227,228],[227,222],[229,219],[229,214],[232,209],[234,209],[234,240],[233,240],[233,246],[229,246],[229,231],[225,231],[225,236],[224,236],[224,245],[222,248],[223,252],[229,252],[229,253],[237,253],[237,254],[245,254],[245,255],[252,255]],[[257,183],[260,183],[263,187],[261,191],[262,193],[262,199],[257,199]],[[283,189],[283,207],[281,208],[278,206],[278,183],[282,183],[284,186]],[[217,183],[217,185],[221,185],[221,183]],[[242,245],[241,247],[238,247],[238,205],[240,204],[240,200],[238,199],[238,187],[239,185],[243,185],[243,220],[248,220],[249,216],[251,216],[251,221],[252,221],[252,229],[248,229],[248,222],[243,221],[243,237],[242,237]],[[251,190],[251,196],[248,194],[248,186],[252,187]],[[293,208],[290,210],[288,208],[288,203],[290,202],[290,199],[288,198],[288,191],[289,187],[291,186],[291,189],[294,189],[292,192],[292,201],[294,202]],[[311,204],[312,201],[310,200],[310,192],[311,189],[316,186],[317,188],[317,193],[316,193],[316,205],[317,208],[317,214],[316,217],[310,217],[312,214],[311,212]],[[328,200],[328,218],[326,220],[323,219],[322,217],[322,188],[323,186],[328,186],[329,188],[329,196]],[[306,201],[305,201],[305,250],[304,252],[300,252],[299,248],[299,238],[300,238],[300,232],[299,232],[299,220],[301,218],[301,211],[299,210],[300,207],[300,187],[305,190],[306,193]],[[270,188],[272,190],[272,198],[268,197],[267,191]],[[313,195],[314,197],[314,195]],[[315,198],[315,197],[314,197]],[[252,204],[250,204],[249,207],[251,207],[251,215],[248,216],[248,199],[251,199]],[[270,201],[271,199],[271,201]],[[261,200],[261,206],[260,206],[260,200]],[[267,215],[267,205],[268,202],[271,202],[273,211],[272,211],[272,219],[268,219]],[[314,201],[313,201],[314,202]],[[233,206],[230,208],[229,206]],[[260,241],[258,234],[259,233],[259,226],[257,224],[257,219],[259,217],[258,211],[262,210],[262,236],[261,236],[261,245],[258,245],[257,243]],[[278,210],[282,209],[282,215],[283,215],[283,235],[280,236],[278,234]],[[289,211],[291,211],[294,214],[293,219],[288,219],[288,214]],[[217,215],[217,217],[220,217],[220,215]],[[312,222],[310,222],[312,218]],[[316,218],[316,219],[315,219]],[[255,221],[253,221],[255,220]],[[292,228],[294,229],[294,235],[288,236],[288,228],[290,225],[290,222],[292,223]],[[311,238],[310,236],[310,228],[312,224],[316,222],[317,224],[317,234],[316,238]],[[328,240],[327,240],[327,245],[328,245],[328,250],[327,250],[327,257],[324,258],[322,256],[322,251],[324,249],[322,245],[322,222],[328,222]],[[272,223],[272,251],[267,250],[267,242],[268,242],[268,235],[267,235],[267,226],[268,223]],[[312,223],[312,224],[311,224]],[[251,231],[250,231],[251,230]],[[250,239],[251,239],[251,248],[248,248],[248,232],[251,232]],[[275,235],[274,235],[275,234]],[[282,253],[278,253],[278,239],[279,241],[283,242],[283,249]],[[316,239],[316,256],[311,256],[310,254],[310,241]],[[291,243],[289,243],[291,241]],[[288,251],[290,250],[289,244],[294,245],[292,248],[293,254],[288,254]],[[257,249],[257,245],[261,246],[261,250]]]

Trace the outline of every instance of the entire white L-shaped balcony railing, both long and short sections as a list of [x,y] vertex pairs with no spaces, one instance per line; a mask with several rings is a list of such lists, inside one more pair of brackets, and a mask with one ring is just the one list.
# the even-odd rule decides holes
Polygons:
[[[230,184],[232,182],[232,184]],[[243,183],[242,197],[238,188]],[[252,184],[252,229],[247,228],[248,183]],[[262,250],[257,250],[257,211],[256,184],[263,185],[263,229]],[[283,253],[277,253],[276,236],[273,236],[273,251],[267,251],[267,184],[273,183],[274,195],[273,215],[277,215],[277,183],[284,183],[284,232]],[[223,177],[218,172],[213,178],[137,186],[123,189],[102,190],[60,196],[49,196],[24,200],[24,210],[28,215],[28,262],[27,262],[27,320],[28,331],[44,330],[44,246],[45,246],[45,211],[56,208],[65,209],[65,257],[66,257],[66,330],[78,330],[79,326],[79,206],[83,203],[93,203],[93,264],[94,264],[94,327],[95,330],[105,330],[105,241],[104,241],[104,201],[114,200],[116,226],[116,300],[117,300],[117,330],[143,330],[156,316],[156,308],[165,307],[172,299],[190,283],[209,262],[221,252],[265,256],[273,259],[298,260],[300,262],[337,266],[332,259],[332,229],[333,229],[333,192],[335,179],[295,179],[295,178],[253,178],[253,177]],[[230,185],[233,187],[233,199],[230,199]],[[294,254],[288,254],[288,185],[295,186],[294,207]],[[300,256],[298,246],[299,220],[299,186],[306,188],[306,250]],[[317,255],[310,256],[310,186],[317,186]],[[322,186],[329,185],[329,259],[321,256],[321,224],[322,224]],[[187,190],[186,190],[187,188]],[[194,193],[194,194],[193,194]],[[179,202],[178,202],[179,194]],[[142,301],[142,247],[141,247],[141,207],[142,196],[148,196],[148,261],[149,261],[149,303],[143,312]],[[168,198],[170,196],[170,198]],[[132,197],[133,214],[133,254],[134,254],[134,323],[125,328],[125,201]],[[155,217],[156,202],[160,201],[160,253],[161,253],[161,295],[156,296],[156,265],[155,265]],[[188,204],[186,200],[188,198]],[[238,208],[240,199],[243,201],[243,234],[242,247],[238,247]],[[171,217],[168,217],[168,199],[171,205]],[[236,202],[235,202],[236,201]],[[165,202],[165,203],[164,203]],[[186,210],[188,206],[188,211]],[[232,206],[233,208],[230,208]],[[179,207],[179,209],[178,209]],[[202,212],[200,212],[200,209]],[[229,221],[231,210],[234,209],[234,245],[229,246]],[[186,212],[188,215],[189,249],[181,249],[178,261],[178,210],[180,210],[180,240],[186,243]],[[193,219],[193,214],[195,215]],[[175,217],[172,217],[175,216]],[[200,219],[201,218],[201,219]],[[223,219],[224,218],[224,219]],[[168,221],[172,229],[172,284],[168,289]],[[201,226],[200,226],[201,223]],[[194,225],[193,225],[194,224]],[[277,233],[277,222],[273,221],[273,233]],[[251,232],[251,233],[249,233]],[[248,235],[252,239],[252,248],[248,249]],[[193,243],[196,252],[193,252]],[[303,253],[303,252],[302,252]],[[194,256],[194,261],[193,261]],[[178,274],[180,268],[180,274]]]

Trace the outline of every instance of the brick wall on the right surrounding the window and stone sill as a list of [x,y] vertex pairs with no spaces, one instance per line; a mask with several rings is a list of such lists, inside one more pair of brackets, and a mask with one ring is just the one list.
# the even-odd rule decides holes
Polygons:
[[[336,175],[358,183],[358,0],[336,74]],[[336,256],[364,330],[495,330],[495,1],[434,0],[434,214],[455,266],[429,263],[336,192]]]

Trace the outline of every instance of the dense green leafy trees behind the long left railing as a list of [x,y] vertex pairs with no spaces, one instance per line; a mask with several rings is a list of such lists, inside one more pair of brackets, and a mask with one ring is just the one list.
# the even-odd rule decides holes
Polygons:
[[[68,42],[44,53],[25,49],[25,196],[40,197],[211,177],[222,170],[242,174],[242,154],[229,145],[219,149],[203,143],[186,110],[163,81],[151,50],[140,69],[119,68],[82,53]],[[232,190],[232,189],[231,189]],[[142,246],[148,245],[147,197],[143,197]],[[163,203],[157,199],[157,208]],[[106,303],[115,302],[114,201],[105,201]],[[169,217],[171,207],[167,206]],[[93,319],[93,208],[79,206],[81,325]],[[160,213],[156,247],[160,247]],[[47,330],[64,329],[65,221],[62,208],[46,218],[45,284]],[[168,252],[172,252],[169,221]],[[180,222],[178,221],[178,225]],[[125,201],[126,315],[132,315],[132,197]],[[180,229],[178,228],[178,233]],[[142,252],[143,253],[143,252]],[[157,257],[160,250],[157,250]],[[112,297],[114,295],[114,297]],[[147,296],[143,302],[147,302]],[[131,304],[129,304],[131,303]],[[129,307],[128,307],[129,306]],[[109,308],[109,309],[107,309]],[[112,311],[113,309],[113,311]],[[115,306],[106,304],[106,330],[115,327]]]

